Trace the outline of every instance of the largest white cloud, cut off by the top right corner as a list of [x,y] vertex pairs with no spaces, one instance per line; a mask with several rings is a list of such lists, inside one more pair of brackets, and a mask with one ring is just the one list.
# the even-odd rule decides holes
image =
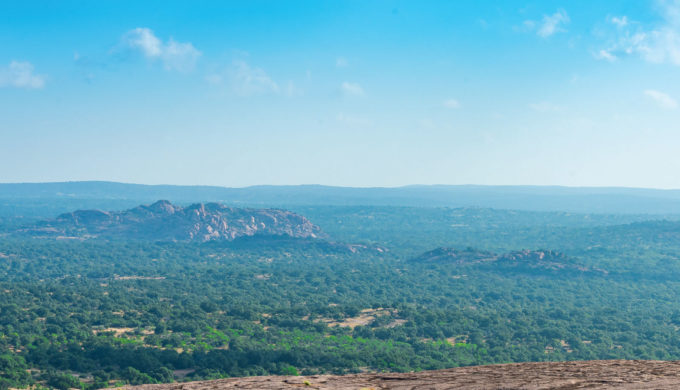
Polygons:
[[611,60],[612,57],[638,56],[652,63],[680,66],[680,0],[659,1],[658,4],[661,19],[652,26],[634,23],[626,16],[608,19],[616,29],[611,31],[607,47],[598,51],[595,57]]

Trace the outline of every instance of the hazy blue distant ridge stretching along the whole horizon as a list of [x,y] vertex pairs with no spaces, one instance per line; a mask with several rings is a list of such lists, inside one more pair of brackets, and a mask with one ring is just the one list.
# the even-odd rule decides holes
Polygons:
[[[222,202],[230,205],[386,205],[491,207],[584,213],[680,214],[680,190],[539,186],[406,186],[351,188],[320,185],[209,186],[140,185],[113,182],[0,184],[0,208],[24,202],[86,203],[130,207],[156,199],[172,202]],[[5,212],[5,214],[7,214]]]

